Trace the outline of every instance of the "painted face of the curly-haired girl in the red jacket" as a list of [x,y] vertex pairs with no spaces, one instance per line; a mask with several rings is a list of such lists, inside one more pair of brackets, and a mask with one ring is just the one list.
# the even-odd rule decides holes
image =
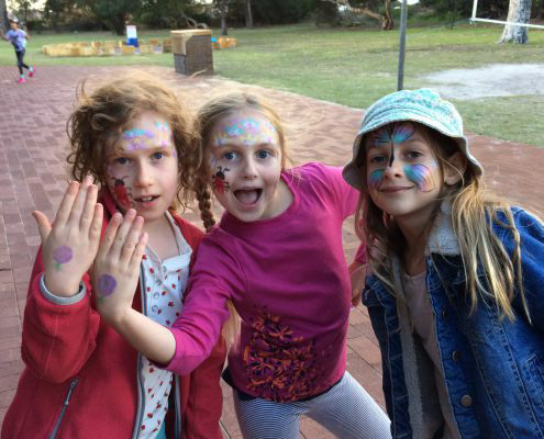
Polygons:
[[130,207],[145,224],[160,218],[178,190],[178,160],[168,122],[144,112],[107,148],[108,189],[122,212]]

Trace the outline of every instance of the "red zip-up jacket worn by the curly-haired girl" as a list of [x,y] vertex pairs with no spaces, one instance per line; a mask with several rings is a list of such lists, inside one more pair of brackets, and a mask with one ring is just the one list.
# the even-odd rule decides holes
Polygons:
[[[109,192],[100,201],[106,207],[103,233],[115,206]],[[202,232],[173,216],[195,257]],[[141,356],[100,318],[89,273],[82,280],[85,297],[58,305],[40,291],[43,272],[40,248],[24,309],[21,353],[26,367],[5,414],[1,439],[136,438],[144,416],[138,384]],[[142,308],[140,284],[133,307]],[[168,438],[222,438],[220,375],[225,354],[221,339],[199,368],[176,378],[177,385],[170,392],[175,404],[170,404],[166,420]]]

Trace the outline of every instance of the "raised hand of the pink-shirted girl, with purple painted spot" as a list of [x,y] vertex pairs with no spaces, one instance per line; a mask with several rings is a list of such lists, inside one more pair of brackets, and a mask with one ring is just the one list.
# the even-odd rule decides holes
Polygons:
[[130,209],[124,218],[115,213],[106,228],[92,268],[92,289],[97,308],[110,322],[121,322],[132,300],[140,278],[140,262],[147,245],[142,234],[144,219]]

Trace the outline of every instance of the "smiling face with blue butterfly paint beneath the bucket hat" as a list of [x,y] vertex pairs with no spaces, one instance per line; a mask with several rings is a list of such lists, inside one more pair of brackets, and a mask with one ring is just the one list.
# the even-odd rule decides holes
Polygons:
[[396,217],[434,206],[441,173],[421,127],[387,125],[366,138],[367,187],[374,203]]

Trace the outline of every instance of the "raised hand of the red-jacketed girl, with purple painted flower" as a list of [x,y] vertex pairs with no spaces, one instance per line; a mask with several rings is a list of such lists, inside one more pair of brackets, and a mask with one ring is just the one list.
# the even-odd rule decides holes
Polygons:
[[97,194],[88,176],[68,185],[53,226],[44,213],[32,213],[42,238],[45,286],[55,295],[75,295],[97,255],[103,216]]

